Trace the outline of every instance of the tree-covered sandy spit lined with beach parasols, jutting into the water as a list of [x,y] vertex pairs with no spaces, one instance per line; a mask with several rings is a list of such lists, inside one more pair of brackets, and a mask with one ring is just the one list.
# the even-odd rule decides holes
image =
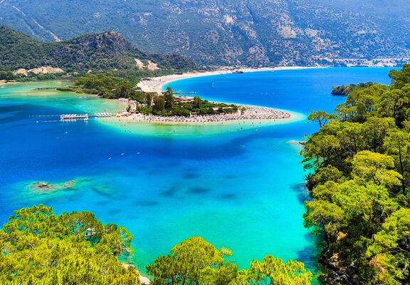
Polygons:
[[[217,71],[226,72],[226,71]],[[238,72],[238,71],[236,71]],[[145,80],[147,81],[147,80]],[[152,78],[156,81],[156,78]],[[159,79],[163,82],[164,79]],[[162,88],[162,87],[161,87]],[[283,120],[291,114],[283,110],[211,102],[198,95],[194,97],[177,95],[172,88],[164,92],[147,92],[136,88],[123,78],[104,75],[87,75],[78,78],[71,86],[57,88],[62,91],[88,93],[101,98],[117,99],[123,103],[123,110],[117,118],[127,121],[149,123],[218,123],[232,120]]]

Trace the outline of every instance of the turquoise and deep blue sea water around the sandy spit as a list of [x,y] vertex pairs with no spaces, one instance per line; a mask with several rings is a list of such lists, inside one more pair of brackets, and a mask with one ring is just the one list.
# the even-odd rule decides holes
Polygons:
[[[389,83],[389,68],[317,68],[191,78],[170,83],[211,100],[265,105],[308,115],[345,98],[331,86]],[[134,235],[143,269],[182,239],[201,235],[233,250],[246,268],[266,254],[315,270],[317,241],[303,227],[305,172],[301,140],[317,130],[305,120],[236,126],[42,123],[62,113],[117,110],[112,101],[33,90],[63,83],[0,87],[0,222],[33,204],[56,212],[88,210]],[[44,96],[44,93],[49,93]],[[40,123],[36,123],[36,122]],[[219,131],[215,131],[219,128]],[[156,135],[159,134],[159,135]],[[72,190],[34,193],[31,182],[78,180]]]

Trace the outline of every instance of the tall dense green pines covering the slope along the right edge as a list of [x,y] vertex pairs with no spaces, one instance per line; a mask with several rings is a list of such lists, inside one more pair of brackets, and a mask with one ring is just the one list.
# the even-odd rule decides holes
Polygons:
[[315,171],[305,225],[347,283],[410,282],[410,65],[389,76],[354,88],[335,115],[312,113],[321,128],[301,152]]

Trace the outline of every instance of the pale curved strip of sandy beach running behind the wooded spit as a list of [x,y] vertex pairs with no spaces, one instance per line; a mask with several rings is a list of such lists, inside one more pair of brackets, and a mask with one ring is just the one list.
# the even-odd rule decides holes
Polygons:
[[[240,68],[240,71],[243,73],[250,73],[250,72],[261,72],[261,71],[287,71],[287,70],[295,70],[295,69],[308,69],[308,68],[323,68],[321,66],[278,66],[274,68]],[[165,85],[172,81],[179,81],[186,78],[194,78],[194,77],[201,77],[201,76],[216,76],[221,74],[229,74],[233,73],[235,69],[230,67],[219,68],[216,71],[193,71],[187,72],[182,74],[172,74],[169,76],[159,76],[159,77],[152,77],[146,78],[146,80],[140,81],[137,84],[137,87],[140,88],[144,92],[152,92],[152,93],[162,93],[162,90]]]

